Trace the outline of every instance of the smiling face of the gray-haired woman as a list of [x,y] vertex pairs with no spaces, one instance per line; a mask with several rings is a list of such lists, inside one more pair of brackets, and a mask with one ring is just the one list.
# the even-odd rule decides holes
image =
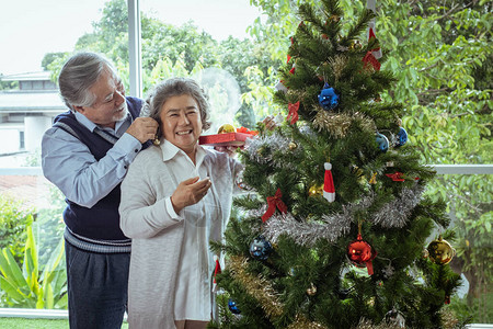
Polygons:
[[188,94],[171,97],[161,106],[161,131],[167,140],[187,155],[195,154],[202,134],[200,109]]

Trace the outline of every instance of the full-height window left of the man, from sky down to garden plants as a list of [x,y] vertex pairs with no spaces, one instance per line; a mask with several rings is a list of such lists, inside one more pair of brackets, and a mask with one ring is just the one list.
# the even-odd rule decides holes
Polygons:
[[[121,4],[126,13],[126,1]],[[50,70],[57,71],[68,54],[89,49],[111,57],[101,42],[105,0],[10,1],[0,11],[0,249],[12,254],[10,269],[24,263],[24,245],[35,240],[38,282],[48,264],[53,296],[37,299],[23,284],[2,282],[0,308],[66,309],[66,274],[61,213],[65,200],[41,171],[41,140],[53,118],[67,111]],[[107,14],[107,12],[106,12]],[[121,26],[127,31],[127,19]],[[115,35],[118,37],[118,35]],[[127,52],[127,42],[119,47]],[[27,229],[30,227],[30,229]],[[7,251],[9,250],[9,251]],[[59,258],[58,258],[59,257]],[[58,259],[58,262],[50,262]],[[3,272],[3,271],[2,271]],[[27,274],[32,273],[25,273]],[[8,277],[8,280],[11,277]],[[14,281],[12,281],[14,282]],[[22,294],[15,294],[22,292]],[[41,303],[43,300],[43,303]],[[2,327],[2,325],[0,325]]]

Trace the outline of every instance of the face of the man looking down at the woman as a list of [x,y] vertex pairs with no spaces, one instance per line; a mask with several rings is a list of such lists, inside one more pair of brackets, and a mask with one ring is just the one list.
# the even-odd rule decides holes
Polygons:
[[103,127],[115,127],[115,123],[127,115],[127,102],[121,80],[110,70],[104,70],[89,89],[95,95],[91,106],[74,106],[87,118]]

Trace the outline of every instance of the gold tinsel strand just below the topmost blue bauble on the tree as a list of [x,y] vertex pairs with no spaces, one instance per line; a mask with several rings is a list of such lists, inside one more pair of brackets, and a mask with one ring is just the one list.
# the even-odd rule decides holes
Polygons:
[[328,111],[320,111],[319,107],[316,117],[313,118],[313,126],[319,131],[328,131],[334,138],[345,138],[354,122],[359,122],[364,131],[375,132],[375,123],[363,113],[331,113]]

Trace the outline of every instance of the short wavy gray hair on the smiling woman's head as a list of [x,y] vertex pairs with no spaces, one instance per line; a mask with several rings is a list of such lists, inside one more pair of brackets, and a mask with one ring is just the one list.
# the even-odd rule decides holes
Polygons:
[[198,83],[190,78],[171,78],[160,82],[151,93],[148,95],[147,103],[149,105],[149,117],[152,117],[159,123],[157,135],[162,136],[161,132],[161,109],[162,105],[172,97],[180,97],[183,94],[191,95],[198,104],[200,112],[200,121],[203,131],[210,128],[210,104],[207,94],[198,86]]

